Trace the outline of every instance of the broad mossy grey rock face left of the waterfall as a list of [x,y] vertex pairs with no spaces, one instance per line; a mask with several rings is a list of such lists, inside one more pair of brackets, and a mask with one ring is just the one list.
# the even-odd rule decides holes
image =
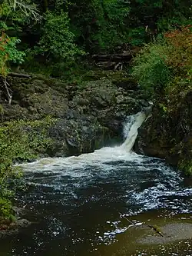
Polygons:
[[[43,132],[51,139],[47,148],[38,147],[42,156],[68,156],[94,151],[111,138],[121,138],[127,115],[147,106],[144,94],[130,79],[84,81],[81,86],[41,75],[31,78],[9,78],[13,91],[12,104],[1,95],[2,124],[5,121],[49,117],[51,125],[22,125],[23,131],[35,138]],[[33,130],[35,135],[32,134]],[[41,140],[41,139],[40,139]],[[40,143],[41,144],[41,143]]]

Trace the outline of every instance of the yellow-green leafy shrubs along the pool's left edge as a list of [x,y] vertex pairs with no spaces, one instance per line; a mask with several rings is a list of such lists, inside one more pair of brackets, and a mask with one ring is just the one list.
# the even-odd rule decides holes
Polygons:
[[15,161],[28,161],[41,155],[51,145],[47,128],[51,118],[41,121],[11,121],[0,126],[0,224],[13,219],[11,199],[22,172]]

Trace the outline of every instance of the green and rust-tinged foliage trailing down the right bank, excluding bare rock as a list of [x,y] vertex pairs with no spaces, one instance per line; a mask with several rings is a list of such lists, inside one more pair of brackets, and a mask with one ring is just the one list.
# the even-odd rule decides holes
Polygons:
[[178,159],[177,165],[185,174],[192,175],[192,26],[165,32],[161,40],[146,45],[135,58],[133,75],[151,95],[161,117],[172,123],[173,131],[161,131],[162,138],[173,136],[170,155]]

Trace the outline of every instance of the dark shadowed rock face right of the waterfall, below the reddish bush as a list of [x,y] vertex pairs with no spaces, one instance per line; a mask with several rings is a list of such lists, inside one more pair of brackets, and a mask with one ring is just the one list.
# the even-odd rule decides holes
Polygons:
[[192,174],[192,91],[182,93],[171,111],[154,106],[152,116],[139,129],[135,150],[164,158]]

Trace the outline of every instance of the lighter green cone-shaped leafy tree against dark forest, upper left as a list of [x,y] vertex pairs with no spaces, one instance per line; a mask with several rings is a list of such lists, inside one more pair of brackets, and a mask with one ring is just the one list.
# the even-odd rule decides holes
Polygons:
[[69,29],[67,12],[61,12],[60,15],[46,12],[45,25],[38,45],[35,53],[49,56],[55,59],[56,63],[73,62],[74,56],[84,54],[74,44],[74,34]]

